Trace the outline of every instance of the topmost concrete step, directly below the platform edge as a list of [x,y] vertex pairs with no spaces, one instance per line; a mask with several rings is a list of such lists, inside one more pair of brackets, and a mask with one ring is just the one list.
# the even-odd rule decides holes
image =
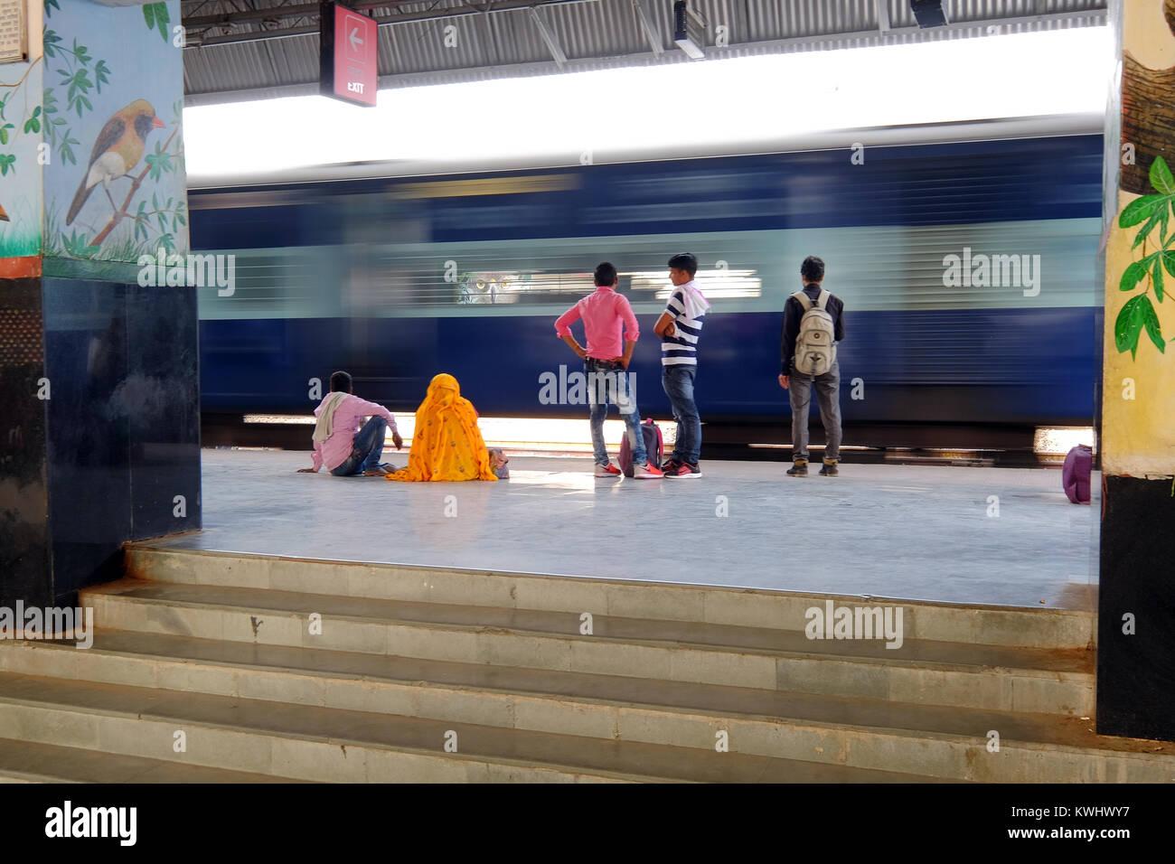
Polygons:
[[499,609],[804,631],[807,610],[900,605],[906,639],[1042,649],[1090,648],[1089,611],[799,594],[716,585],[573,578],[342,561],[128,547],[127,575],[168,583],[469,604]]

